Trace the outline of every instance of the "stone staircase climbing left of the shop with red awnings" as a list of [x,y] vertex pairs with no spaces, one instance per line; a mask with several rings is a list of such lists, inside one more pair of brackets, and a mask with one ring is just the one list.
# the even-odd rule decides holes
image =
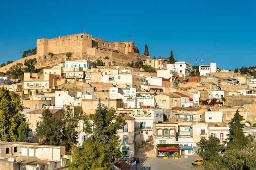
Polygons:
[[135,157],[155,157],[153,137],[149,136],[146,141],[135,142]]

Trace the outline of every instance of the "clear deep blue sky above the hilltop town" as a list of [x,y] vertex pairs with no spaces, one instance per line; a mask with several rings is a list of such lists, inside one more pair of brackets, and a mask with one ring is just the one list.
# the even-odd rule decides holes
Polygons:
[[[1,1],[0,64],[22,58],[36,39],[86,33],[134,41],[140,54],[234,70],[256,65],[256,1]],[[133,35],[133,36],[131,36]]]

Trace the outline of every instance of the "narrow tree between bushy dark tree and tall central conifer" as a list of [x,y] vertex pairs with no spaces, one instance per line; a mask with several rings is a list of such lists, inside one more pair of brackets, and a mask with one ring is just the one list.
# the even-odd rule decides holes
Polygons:
[[79,111],[73,111],[70,106],[67,106],[66,110],[62,109],[63,126],[61,136],[61,146],[66,147],[66,153],[71,150],[73,144],[77,144],[79,132],[76,131],[78,122],[81,120]]

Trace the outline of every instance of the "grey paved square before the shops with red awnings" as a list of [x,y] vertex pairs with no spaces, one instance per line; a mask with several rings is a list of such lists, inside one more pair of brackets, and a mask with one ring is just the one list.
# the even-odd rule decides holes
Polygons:
[[198,155],[191,155],[188,158],[181,156],[179,159],[173,158],[140,158],[139,164],[137,165],[137,170],[140,170],[141,166],[149,166],[151,170],[203,170],[203,166],[192,166],[192,162],[196,159],[200,159]]

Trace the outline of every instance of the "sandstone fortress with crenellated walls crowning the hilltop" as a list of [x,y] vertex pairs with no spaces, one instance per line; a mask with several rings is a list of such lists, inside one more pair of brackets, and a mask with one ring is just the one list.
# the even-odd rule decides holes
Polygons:
[[38,56],[46,56],[49,52],[53,54],[72,52],[78,59],[86,59],[88,56],[145,57],[139,54],[139,49],[132,41],[110,43],[99,38],[92,38],[92,35],[85,33],[59,36],[53,39],[37,39],[36,46]]

